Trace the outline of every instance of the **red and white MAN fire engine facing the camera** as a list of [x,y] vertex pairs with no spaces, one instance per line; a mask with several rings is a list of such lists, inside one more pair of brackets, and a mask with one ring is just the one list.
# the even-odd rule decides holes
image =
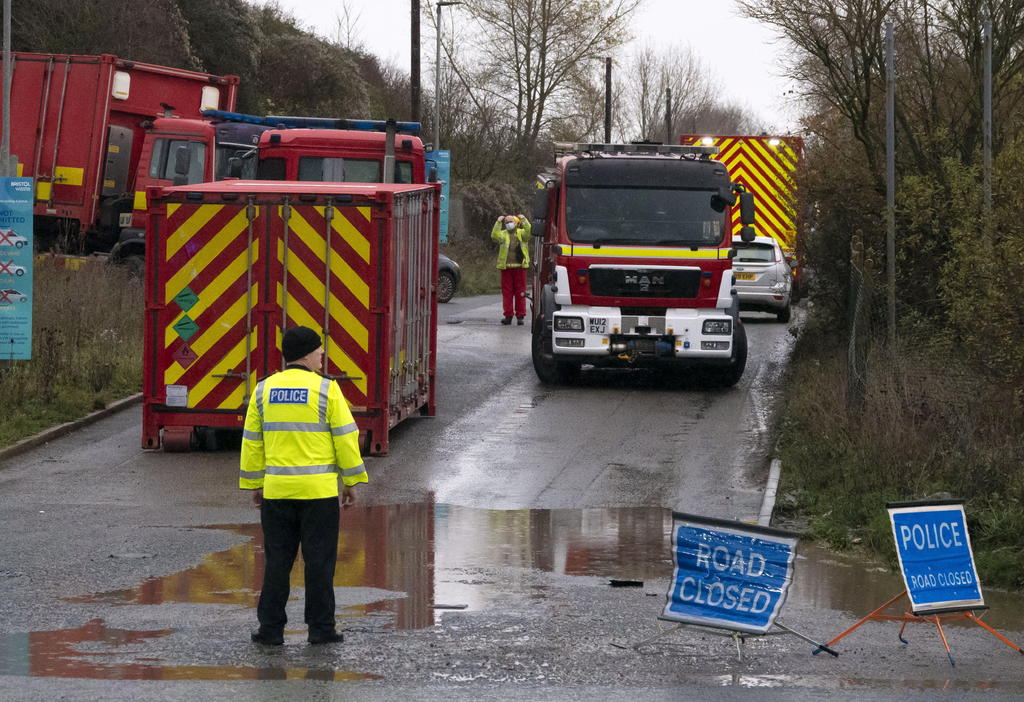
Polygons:
[[538,178],[532,358],[546,384],[593,366],[691,366],[739,381],[746,334],[732,278],[733,213],[754,198],[714,146],[556,144]]

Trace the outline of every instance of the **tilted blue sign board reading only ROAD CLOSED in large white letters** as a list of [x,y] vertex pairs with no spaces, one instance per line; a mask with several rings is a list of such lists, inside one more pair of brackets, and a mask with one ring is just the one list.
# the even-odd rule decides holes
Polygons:
[[766,633],[793,582],[798,536],[694,515],[673,518],[676,569],[660,618]]

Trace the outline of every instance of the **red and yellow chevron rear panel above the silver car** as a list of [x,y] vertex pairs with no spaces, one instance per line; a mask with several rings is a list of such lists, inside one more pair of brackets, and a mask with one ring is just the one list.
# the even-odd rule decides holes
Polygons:
[[[735,183],[754,193],[757,204],[755,231],[775,237],[786,252],[797,248],[797,171],[804,141],[793,136],[709,136],[683,134],[685,145],[718,146],[718,156]],[[739,209],[732,210],[730,227],[739,234]]]

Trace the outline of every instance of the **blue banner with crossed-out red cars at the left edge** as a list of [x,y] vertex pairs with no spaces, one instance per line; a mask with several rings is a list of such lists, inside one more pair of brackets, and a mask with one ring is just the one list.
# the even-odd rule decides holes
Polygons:
[[32,178],[0,178],[0,359],[32,358]]

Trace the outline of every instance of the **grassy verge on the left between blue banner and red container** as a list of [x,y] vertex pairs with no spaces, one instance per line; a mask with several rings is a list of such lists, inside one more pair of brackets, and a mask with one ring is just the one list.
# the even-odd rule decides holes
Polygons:
[[0,447],[136,393],[142,286],[120,267],[34,270],[32,359],[3,361]]

